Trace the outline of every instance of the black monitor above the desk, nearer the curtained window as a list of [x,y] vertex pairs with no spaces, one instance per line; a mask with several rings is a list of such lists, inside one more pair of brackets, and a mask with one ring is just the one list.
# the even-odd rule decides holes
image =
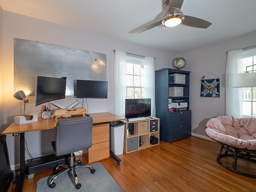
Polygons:
[[108,98],[108,82],[74,80],[74,98]]

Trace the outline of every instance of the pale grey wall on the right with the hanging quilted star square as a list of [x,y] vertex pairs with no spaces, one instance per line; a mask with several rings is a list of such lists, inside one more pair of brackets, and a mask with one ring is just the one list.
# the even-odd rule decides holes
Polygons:
[[[207,121],[215,116],[225,115],[225,70],[227,51],[256,45],[256,32],[230,40],[210,44],[202,48],[184,52],[186,70],[190,75],[190,108],[192,110],[192,132],[206,136]],[[212,72],[220,77],[220,98],[200,97],[200,79]],[[216,78],[209,74],[205,79]]]

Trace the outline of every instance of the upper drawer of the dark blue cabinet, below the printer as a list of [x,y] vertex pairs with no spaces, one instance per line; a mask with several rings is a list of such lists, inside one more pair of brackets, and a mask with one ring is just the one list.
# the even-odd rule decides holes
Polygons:
[[191,111],[172,112],[169,114],[169,127],[191,124]]

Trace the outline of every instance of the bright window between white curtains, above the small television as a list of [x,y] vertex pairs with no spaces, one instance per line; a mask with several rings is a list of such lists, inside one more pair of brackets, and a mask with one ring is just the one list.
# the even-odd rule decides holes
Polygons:
[[145,80],[144,59],[126,56],[126,98],[145,98]]

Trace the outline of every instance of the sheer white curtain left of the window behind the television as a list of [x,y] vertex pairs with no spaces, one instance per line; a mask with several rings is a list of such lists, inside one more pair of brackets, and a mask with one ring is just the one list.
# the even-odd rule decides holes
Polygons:
[[126,53],[116,50],[114,56],[114,114],[125,116]]

